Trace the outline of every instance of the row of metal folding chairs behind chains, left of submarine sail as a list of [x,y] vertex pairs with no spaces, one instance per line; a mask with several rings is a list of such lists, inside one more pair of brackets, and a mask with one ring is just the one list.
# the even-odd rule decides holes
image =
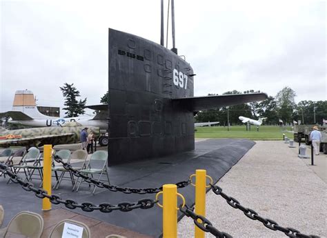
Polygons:
[[[11,152],[12,155],[9,155],[10,153],[6,152],[5,150],[0,154],[0,157],[4,154],[4,152],[6,152],[6,155],[9,155],[8,159],[6,160],[6,165],[10,167],[12,172],[24,172],[26,181],[32,180],[33,175],[35,175],[35,172],[38,173],[38,177],[40,179],[43,179],[43,153],[41,153],[38,148],[34,147],[30,148],[26,154],[25,152],[23,152],[23,150],[18,151],[19,152],[14,153]],[[14,162],[13,159],[18,155],[22,156],[20,161]],[[72,166],[72,168],[74,168],[75,170],[79,170],[79,172],[86,174],[90,177],[94,177],[95,175],[97,175],[98,181],[102,181],[101,177],[103,175],[106,175],[106,180],[108,181],[108,184],[110,184],[107,166],[108,152],[98,150],[93,153],[90,158],[88,158],[88,153],[86,152],[86,150],[75,150],[72,153],[70,152],[70,150],[59,150],[58,152],[52,150],[52,158],[56,156],[60,157],[66,163],[70,163],[72,159],[74,159],[74,161],[83,161],[81,166]],[[75,181],[73,173],[70,170],[66,170],[65,168],[63,168],[61,164],[56,164],[54,162],[54,159],[52,159],[52,172],[54,172],[54,176],[56,177],[56,183],[53,186],[54,189],[59,188],[63,179],[70,179],[72,181],[72,190],[75,190],[75,187],[77,186],[76,190],[78,191],[79,187],[83,183],[83,179],[79,177]],[[69,173],[70,177],[65,177],[65,174],[67,172]],[[8,183],[9,182],[10,180],[8,181]],[[95,186],[92,191],[93,194],[95,193],[96,188],[97,187]]]

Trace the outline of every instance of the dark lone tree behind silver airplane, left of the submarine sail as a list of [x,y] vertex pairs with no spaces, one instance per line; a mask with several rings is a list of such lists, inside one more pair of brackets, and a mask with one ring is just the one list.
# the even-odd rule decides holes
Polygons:
[[63,87],[60,87],[60,90],[63,92],[63,97],[66,97],[65,103],[63,103],[66,106],[66,108],[63,108],[63,110],[66,110],[66,117],[77,117],[85,112],[86,99],[77,101],[76,98],[81,96],[79,90],[74,87],[74,83],[65,83]]

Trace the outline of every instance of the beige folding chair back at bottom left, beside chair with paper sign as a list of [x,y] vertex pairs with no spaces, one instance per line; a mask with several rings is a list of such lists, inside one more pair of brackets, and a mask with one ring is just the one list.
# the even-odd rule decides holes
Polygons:
[[9,222],[3,237],[39,238],[43,228],[44,221],[41,215],[28,211],[19,212]]

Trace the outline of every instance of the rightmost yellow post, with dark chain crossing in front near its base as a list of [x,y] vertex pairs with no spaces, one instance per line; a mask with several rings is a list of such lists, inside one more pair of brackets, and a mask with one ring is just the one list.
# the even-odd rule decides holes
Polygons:
[[[195,213],[206,217],[206,170],[195,171]],[[204,238],[205,232],[195,226],[195,238]]]

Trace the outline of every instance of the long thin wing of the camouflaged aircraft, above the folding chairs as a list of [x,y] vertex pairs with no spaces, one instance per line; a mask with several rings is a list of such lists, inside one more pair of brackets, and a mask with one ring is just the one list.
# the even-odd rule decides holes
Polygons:
[[50,141],[51,139],[68,139],[74,133],[63,133],[61,135],[40,135],[36,137],[24,137],[18,139],[0,139],[0,146],[29,146],[40,141]]

